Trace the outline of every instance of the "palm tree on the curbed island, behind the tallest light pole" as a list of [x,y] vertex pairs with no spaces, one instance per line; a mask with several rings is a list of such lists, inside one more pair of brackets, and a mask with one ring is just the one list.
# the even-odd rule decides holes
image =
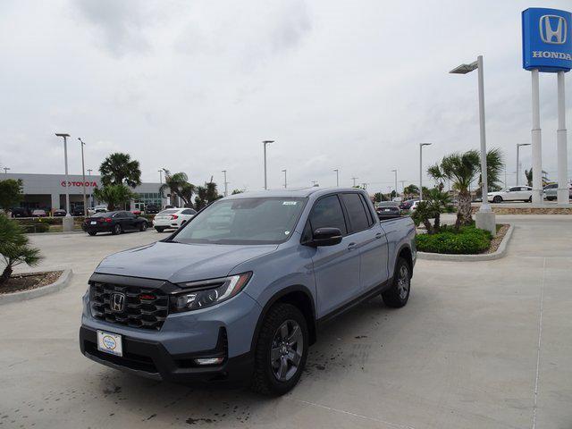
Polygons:
[[[491,149],[487,153],[486,159],[487,176],[491,178],[490,183],[494,183],[498,181],[503,167],[501,151],[496,148]],[[466,225],[473,221],[469,186],[480,174],[481,161],[479,152],[469,150],[462,154],[455,153],[444,156],[439,167],[442,177],[452,181],[453,189],[458,191],[458,211],[457,221],[455,222],[455,227],[458,229],[461,225]],[[430,175],[432,172],[435,171],[433,169],[428,171]]]

